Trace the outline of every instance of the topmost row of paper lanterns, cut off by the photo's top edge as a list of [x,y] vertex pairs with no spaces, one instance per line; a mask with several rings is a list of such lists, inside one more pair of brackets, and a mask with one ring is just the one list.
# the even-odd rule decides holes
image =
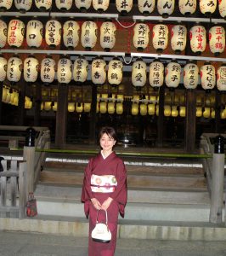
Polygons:
[[[156,8],[159,15],[167,18],[172,15],[175,9],[175,0],[157,0]],[[34,1],[37,9],[40,11],[51,10],[53,1],[52,0],[35,0]],[[76,8],[81,11],[87,11],[91,8],[93,3],[93,9],[104,12],[109,8],[110,0],[75,0]],[[13,0],[2,0],[0,2],[0,9],[8,10],[12,7]],[[55,5],[57,9],[61,11],[68,11],[73,5],[72,0],[55,0]],[[29,11],[32,6],[32,0],[19,1],[14,0],[14,6],[20,12]],[[218,11],[220,15],[224,18],[226,16],[226,3],[224,0],[200,0],[199,9],[201,14],[212,15],[218,6]],[[179,11],[182,15],[192,15],[197,9],[197,0],[189,0],[189,2],[184,0],[178,0]],[[133,9],[133,0],[116,0],[116,9],[121,15],[129,13]],[[150,15],[155,10],[155,0],[138,0],[138,10],[144,15]]]

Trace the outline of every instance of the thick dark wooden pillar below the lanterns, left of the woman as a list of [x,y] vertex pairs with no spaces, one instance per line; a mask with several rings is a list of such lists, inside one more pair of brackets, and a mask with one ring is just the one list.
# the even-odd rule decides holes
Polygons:
[[68,85],[58,84],[55,146],[63,148],[66,140]]

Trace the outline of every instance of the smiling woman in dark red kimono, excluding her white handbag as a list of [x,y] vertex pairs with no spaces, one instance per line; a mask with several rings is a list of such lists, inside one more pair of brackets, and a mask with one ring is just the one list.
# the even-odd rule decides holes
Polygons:
[[[99,131],[99,154],[88,162],[84,172],[82,202],[89,218],[88,255],[113,256],[116,250],[118,213],[124,217],[127,203],[127,171],[123,161],[113,151],[116,131],[103,127]],[[91,232],[96,224],[98,210],[108,213],[111,232],[109,243],[93,241]],[[99,222],[105,222],[105,211],[99,211]]]

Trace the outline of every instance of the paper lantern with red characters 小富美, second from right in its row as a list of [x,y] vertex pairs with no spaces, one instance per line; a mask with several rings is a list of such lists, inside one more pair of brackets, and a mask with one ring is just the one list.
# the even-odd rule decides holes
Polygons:
[[190,47],[197,54],[206,49],[206,28],[204,26],[192,26],[190,31]]

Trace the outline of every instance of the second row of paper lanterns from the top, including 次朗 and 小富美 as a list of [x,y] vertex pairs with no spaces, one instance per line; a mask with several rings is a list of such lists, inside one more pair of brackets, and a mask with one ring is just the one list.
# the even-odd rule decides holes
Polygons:
[[[8,27],[8,29],[7,29]],[[8,32],[7,32],[8,30]],[[50,47],[61,43],[62,26],[58,20],[48,20],[45,26],[45,42]],[[26,44],[38,48],[42,45],[43,25],[40,20],[30,20],[26,26]],[[94,21],[82,23],[81,44],[85,49],[93,49],[98,40],[98,26]],[[0,20],[0,48],[6,42],[11,47],[19,48],[24,42],[25,24],[21,20],[10,20],[7,24]],[[74,49],[79,44],[80,26],[75,20],[67,20],[63,25],[63,42],[68,49]],[[212,26],[208,32],[209,47],[213,54],[223,53],[225,49],[225,30],[223,26]],[[167,25],[156,24],[152,31],[152,45],[161,52],[168,47],[169,29]],[[206,49],[205,26],[192,26],[189,30],[190,49],[200,54]],[[113,49],[116,44],[116,25],[105,21],[100,26],[100,46],[105,50]],[[174,25],[171,28],[171,48],[177,54],[184,51],[187,44],[187,28],[184,25]],[[150,44],[150,26],[137,23],[133,28],[133,45],[138,50],[144,50]]]

